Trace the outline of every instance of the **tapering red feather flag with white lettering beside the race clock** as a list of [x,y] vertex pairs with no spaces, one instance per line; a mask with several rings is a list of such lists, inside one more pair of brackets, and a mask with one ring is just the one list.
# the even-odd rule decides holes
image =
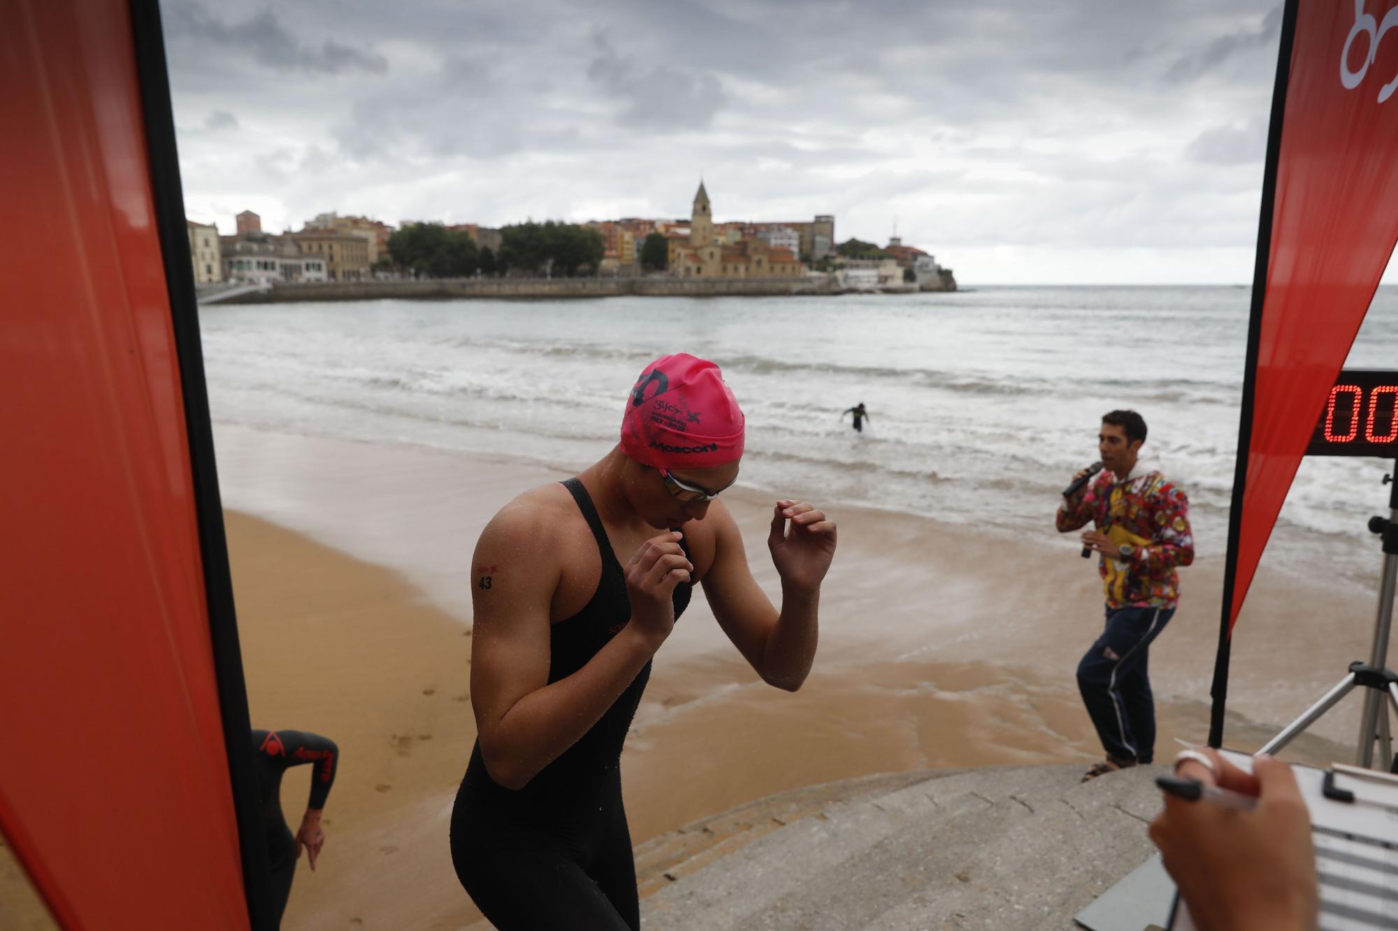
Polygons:
[[1398,240],[1395,27],[1392,0],[1286,3],[1225,566],[1215,735],[1233,623]]

